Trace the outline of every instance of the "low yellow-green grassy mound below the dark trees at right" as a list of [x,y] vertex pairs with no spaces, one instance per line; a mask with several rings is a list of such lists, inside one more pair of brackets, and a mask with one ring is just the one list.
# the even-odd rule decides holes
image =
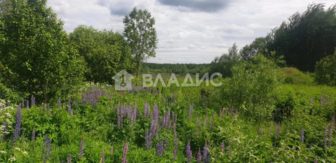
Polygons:
[[303,73],[293,67],[282,68],[281,72],[285,78],[284,82],[287,84],[310,85],[314,82],[314,78],[308,73]]

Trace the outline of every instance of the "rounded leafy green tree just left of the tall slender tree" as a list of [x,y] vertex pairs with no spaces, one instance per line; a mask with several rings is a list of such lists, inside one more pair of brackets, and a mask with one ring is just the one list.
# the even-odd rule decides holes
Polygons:
[[79,26],[69,37],[86,61],[86,80],[112,84],[112,76],[121,69],[133,69],[130,50],[118,32]]

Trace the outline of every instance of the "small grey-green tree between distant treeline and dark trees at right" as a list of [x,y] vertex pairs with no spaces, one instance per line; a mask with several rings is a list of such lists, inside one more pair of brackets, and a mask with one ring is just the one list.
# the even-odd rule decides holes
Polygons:
[[222,73],[223,78],[231,77],[231,68],[241,60],[236,43],[229,48],[228,54],[215,57],[210,64],[210,73]]

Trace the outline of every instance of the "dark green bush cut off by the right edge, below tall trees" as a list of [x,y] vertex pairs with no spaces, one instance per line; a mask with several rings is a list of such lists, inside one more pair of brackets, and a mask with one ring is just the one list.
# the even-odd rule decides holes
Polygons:
[[336,85],[336,50],[334,55],[321,59],[315,65],[315,80],[318,84]]

